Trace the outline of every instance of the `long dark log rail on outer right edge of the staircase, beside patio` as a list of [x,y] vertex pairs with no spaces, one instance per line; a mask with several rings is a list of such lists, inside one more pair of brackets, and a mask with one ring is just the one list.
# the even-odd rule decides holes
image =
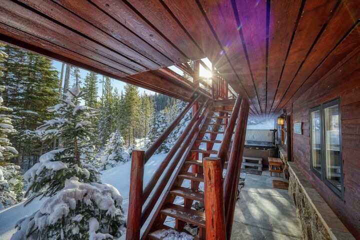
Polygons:
[[226,176],[224,179],[224,209],[226,238],[230,239],[233,214],[236,203],[237,186],[240,176],[240,167],[244,149],[246,134],[246,123],[249,111],[249,103],[246,99],[241,101],[235,128],[234,139],[232,142],[231,153],[227,164]]

